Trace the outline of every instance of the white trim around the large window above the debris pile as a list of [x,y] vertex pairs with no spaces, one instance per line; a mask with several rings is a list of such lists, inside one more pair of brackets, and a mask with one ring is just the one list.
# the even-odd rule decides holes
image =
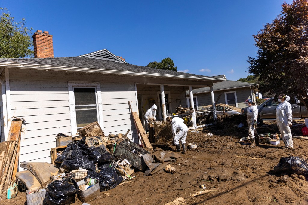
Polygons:
[[71,133],[75,135],[77,133],[77,122],[76,122],[76,111],[75,111],[75,98],[73,87],[95,87],[96,88],[96,103],[98,105],[98,116],[97,121],[100,127],[104,131],[103,125],[103,106],[102,106],[102,96],[100,90],[100,82],[75,82],[69,81],[68,85],[68,98],[70,104],[70,116],[71,116]]

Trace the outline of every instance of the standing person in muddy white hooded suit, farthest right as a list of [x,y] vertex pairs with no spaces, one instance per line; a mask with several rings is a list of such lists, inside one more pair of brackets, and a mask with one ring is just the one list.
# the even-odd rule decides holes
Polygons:
[[281,94],[278,96],[279,105],[276,109],[277,126],[281,134],[281,138],[288,149],[293,150],[293,139],[290,127],[292,127],[292,106],[290,97]]

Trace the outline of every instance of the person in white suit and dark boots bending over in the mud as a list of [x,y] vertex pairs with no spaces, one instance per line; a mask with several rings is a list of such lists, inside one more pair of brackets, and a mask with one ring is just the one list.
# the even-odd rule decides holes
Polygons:
[[[185,140],[186,140],[188,128],[184,124],[184,120],[179,117],[173,117],[173,118],[167,117],[166,120],[167,122],[171,123],[173,142],[176,146],[176,152],[181,151],[181,145],[179,142],[180,140],[182,144],[182,148],[183,148],[182,154],[185,154],[186,153],[186,149],[185,149],[186,141]],[[176,130],[178,130],[179,132],[177,133]]]

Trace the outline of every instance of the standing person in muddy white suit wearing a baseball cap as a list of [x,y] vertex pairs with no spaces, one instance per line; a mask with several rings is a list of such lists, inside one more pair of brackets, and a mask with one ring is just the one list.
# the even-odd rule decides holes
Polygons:
[[[251,144],[249,147],[255,147],[259,145],[259,138],[257,133],[257,125],[258,125],[258,107],[256,103],[254,103],[251,99],[247,99],[244,103],[248,106],[247,108],[247,124],[248,124],[248,135],[251,140]],[[257,139],[255,137],[257,136]]]

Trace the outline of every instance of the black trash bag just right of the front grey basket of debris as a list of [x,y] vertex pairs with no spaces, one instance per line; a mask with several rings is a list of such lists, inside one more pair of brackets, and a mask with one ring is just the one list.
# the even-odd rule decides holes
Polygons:
[[100,191],[113,189],[123,181],[123,178],[118,176],[113,166],[107,167],[98,173],[94,171],[88,171],[87,178],[98,179]]

